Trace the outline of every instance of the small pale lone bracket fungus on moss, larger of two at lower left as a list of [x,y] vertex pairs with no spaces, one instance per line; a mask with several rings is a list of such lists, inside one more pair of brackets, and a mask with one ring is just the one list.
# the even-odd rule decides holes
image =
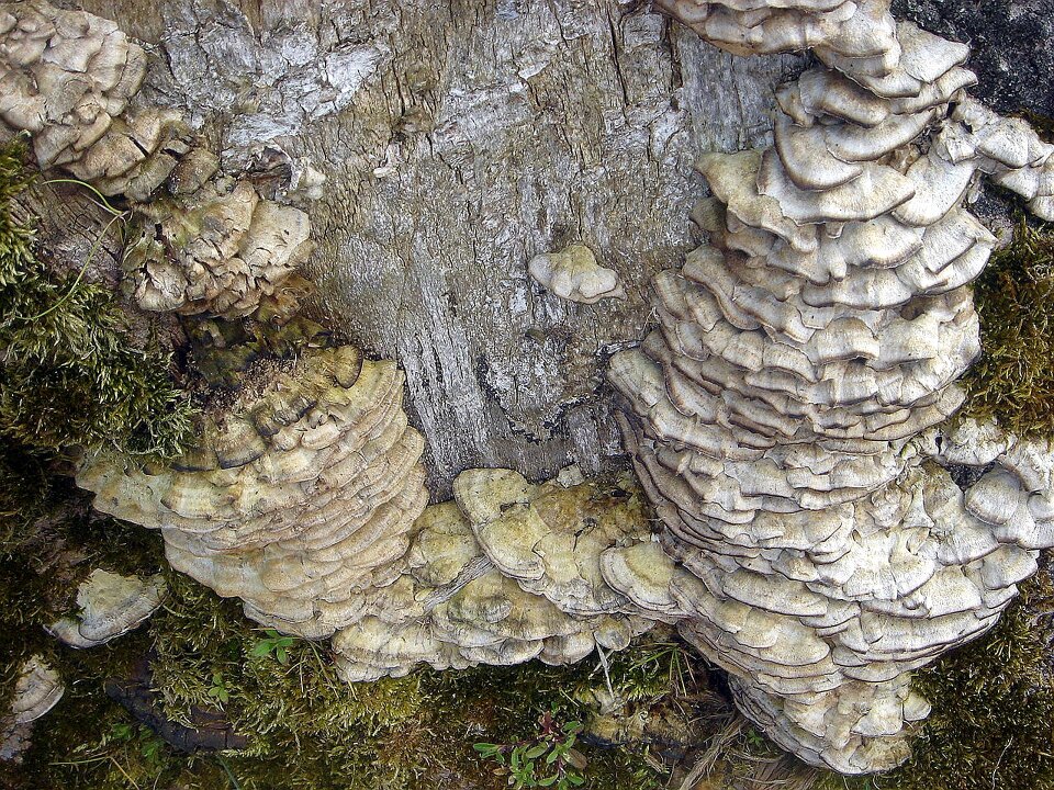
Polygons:
[[47,630],[72,647],[96,647],[127,633],[161,606],[165,579],[122,576],[97,568],[77,588],[78,612]]

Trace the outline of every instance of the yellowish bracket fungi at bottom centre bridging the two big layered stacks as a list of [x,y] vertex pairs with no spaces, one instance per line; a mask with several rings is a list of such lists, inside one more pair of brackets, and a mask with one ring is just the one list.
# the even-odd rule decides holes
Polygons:
[[621,650],[654,624],[615,589],[637,578],[632,560],[608,562],[655,546],[633,481],[564,487],[468,470],[455,497],[425,510],[405,573],[365,596],[361,618],[334,637],[347,680],[417,664],[570,664],[597,647]]

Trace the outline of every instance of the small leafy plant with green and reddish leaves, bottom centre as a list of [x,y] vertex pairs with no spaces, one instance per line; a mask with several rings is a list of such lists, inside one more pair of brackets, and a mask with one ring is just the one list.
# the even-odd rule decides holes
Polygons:
[[550,712],[538,719],[534,737],[514,744],[473,744],[472,748],[485,759],[495,760],[503,774],[508,774],[509,787],[554,788],[570,790],[585,783],[579,772],[586,766],[585,758],[574,748],[582,722],[560,724]]

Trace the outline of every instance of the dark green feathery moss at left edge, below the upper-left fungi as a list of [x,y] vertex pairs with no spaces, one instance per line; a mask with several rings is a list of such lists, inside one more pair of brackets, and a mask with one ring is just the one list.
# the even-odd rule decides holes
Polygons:
[[176,454],[191,410],[168,358],[135,342],[109,289],[52,274],[12,218],[24,156],[22,138],[0,149],[0,437],[33,453]]

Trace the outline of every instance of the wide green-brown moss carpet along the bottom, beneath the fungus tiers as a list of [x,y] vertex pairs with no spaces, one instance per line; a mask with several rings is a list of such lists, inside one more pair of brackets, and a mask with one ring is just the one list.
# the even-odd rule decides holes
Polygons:
[[[145,629],[101,653],[60,648],[48,655],[64,677],[78,682],[40,722],[23,766],[23,776],[36,786],[156,782],[212,789],[235,787],[236,781],[245,790],[497,790],[506,787],[505,777],[480,760],[472,744],[522,740],[543,711],[590,722],[597,701],[610,700],[614,690],[633,720],[647,721],[657,707],[676,699],[682,734],[692,732],[688,724],[699,715],[702,697],[693,695],[705,688],[705,675],[671,641],[644,637],[609,656],[610,690],[602,668],[591,662],[559,668],[532,662],[422,670],[347,685],[337,677],[327,645],[293,640],[282,662],[274,651],[255,650],[269,636],[242,616],[236,601],[222,600],[179,574],[171,573],[169,583],[165,609]],[[106,700],[104,679],[132,672],[137,656],[146,654],[168,718],[192,723],[195,709],[220,711],[248,737],[248,747],[183,755]],[[714,698],[707,693],[705,699],[709,703]],[[661,775],[651,767],[658,759],[648,755],[658,749],[641,732],[618,743],[583,736],[587,788],[661,786]]]

